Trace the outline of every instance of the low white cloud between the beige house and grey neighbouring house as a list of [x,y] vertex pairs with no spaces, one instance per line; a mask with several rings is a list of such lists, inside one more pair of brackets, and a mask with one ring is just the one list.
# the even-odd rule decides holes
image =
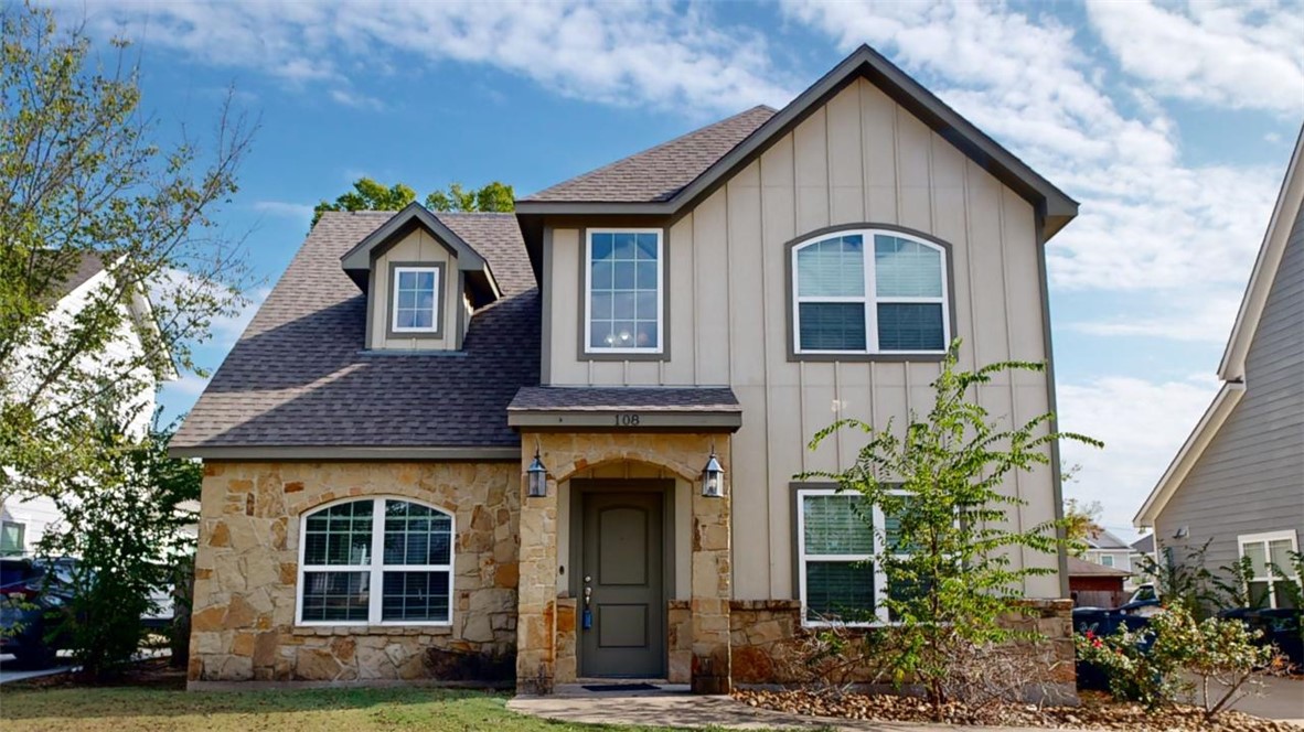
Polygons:
[[1104,442],[1104,449],[1064,443],[1064,465],[1082,466],[1065,496],[1099,500],[1102,522],[1125,530],[1217,391],[1213,376],[1162,383],[1106,376],[1060,384],[1060,429]]

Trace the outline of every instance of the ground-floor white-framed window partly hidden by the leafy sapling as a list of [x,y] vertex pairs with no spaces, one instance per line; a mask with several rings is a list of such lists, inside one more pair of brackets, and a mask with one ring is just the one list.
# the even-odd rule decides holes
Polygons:
[[797,572],[805,623],[891,621],[888,608],[878,598],[888,593],[898,598],[908,589],[889,582],[874,556],[880,554],[876,548],[880,538],[896,541],[896,518],[858,494],[835,488],[801,488],[797,500]]

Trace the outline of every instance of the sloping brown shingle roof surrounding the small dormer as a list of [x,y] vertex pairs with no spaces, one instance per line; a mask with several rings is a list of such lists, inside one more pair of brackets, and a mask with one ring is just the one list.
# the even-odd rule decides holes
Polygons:
[[391,212],[327,212],[213,376],[172,447],[514,447],[506,406],[539,383],[539,290],[510,214],[438,214],[503,290],[460,353],[364,350],[366,296],[340,255]]

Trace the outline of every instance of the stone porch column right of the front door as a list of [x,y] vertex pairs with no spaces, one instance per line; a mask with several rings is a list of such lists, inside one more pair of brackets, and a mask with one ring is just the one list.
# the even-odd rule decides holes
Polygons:
[[729,649],[729,550],[733,482],[729,439],[716,447],[725,469],[725,496],[704,498],[692,487],[692,693],[728,694],[732,689]]

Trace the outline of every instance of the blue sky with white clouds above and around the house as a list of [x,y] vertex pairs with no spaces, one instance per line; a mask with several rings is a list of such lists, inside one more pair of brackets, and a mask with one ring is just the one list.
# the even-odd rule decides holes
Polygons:
[[[1048,247],[1061,425],[1104,439],[1068,495],[1131,517],[1214,370],[1304,119],[1304,4],[69,3],[123,35],[164,134],[228,87],[261,121],[220,216],[250,232],[257,303],[312,204],[368,175],[424,195],[528,194],[754,104],[859,43],[1082,202]],[[252,315],[200,348],[216,366]],[[269,365],[274,367],[274,365]],[[170,384],[180,413],[203,380]]]

